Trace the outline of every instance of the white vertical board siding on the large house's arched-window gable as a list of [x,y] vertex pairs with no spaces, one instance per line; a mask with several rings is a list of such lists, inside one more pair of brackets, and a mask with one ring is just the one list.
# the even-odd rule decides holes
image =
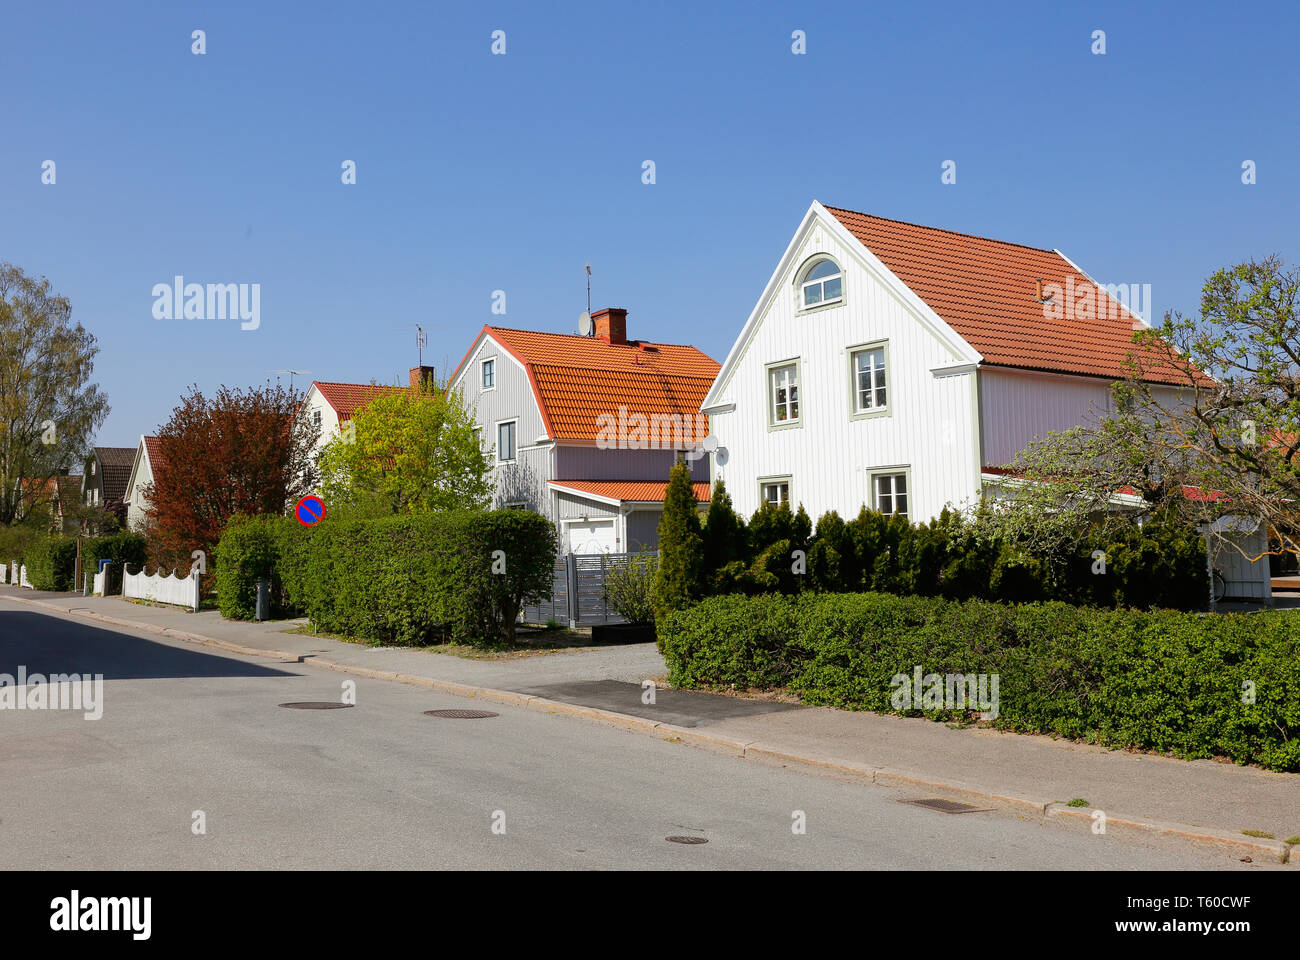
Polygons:
[[[835,258],[844,272],[841,306],[798,311],[794,278],[814,254]],[[853,419],[849,347],[888,341],[889,414]],[[798,358],[801,427],[768,428],[767,364]],[[845,250],[827,229],[814,226],[793,258],[780,289],[725,384],[715,385],[731,412],[711,412],[710,427],[724,447],[714,454],[736,509],[759,505],[759,480],[792,477],[793,506],[815,522],[836,510],[846,519],[871,505],[868,473],[906,467],[909,513],[927,520],[945,505],[979,497],[979,437],[975,373],[936,377],[954,353],[892,290]],[[725,462],[723,462],[725,459]]]

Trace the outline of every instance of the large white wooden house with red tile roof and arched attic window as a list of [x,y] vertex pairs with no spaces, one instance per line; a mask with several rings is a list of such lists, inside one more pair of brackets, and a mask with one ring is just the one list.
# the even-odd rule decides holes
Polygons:
[[[1069,310],[1045,303],[1058,290]],[[1058,250],[814,202],[703,401],[712,476],[741,513],[928,520],[1109,411],[1140,325]]]

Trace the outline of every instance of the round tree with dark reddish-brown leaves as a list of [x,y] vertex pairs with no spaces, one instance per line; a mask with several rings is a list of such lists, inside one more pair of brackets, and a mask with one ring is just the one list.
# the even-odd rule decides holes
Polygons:
[[188,568],[194,550],[212,555],[235,514],[283,514],[312,489],[317,428],[296,416],[302,399],[269,382],[212,398],[190,388],[157,431],[146,490],[153,562]]

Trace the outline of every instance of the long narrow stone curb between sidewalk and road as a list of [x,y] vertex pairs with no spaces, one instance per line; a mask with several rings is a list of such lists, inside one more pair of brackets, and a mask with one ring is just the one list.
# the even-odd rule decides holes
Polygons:
[[[159,633],[161,636],[166,636],[174,640],[185,640],[187,643],[198,643],[211,647],[218,647],[244,657],[257,657],[261,660],[265,660],[266,657],[282,657],[285,660],[292,661],[294,663],[300,663],[303,666],[315,665],[325,667],[328,670],[335,670],[338,673],[352,674],[355,676],[365,676],[377,680],[398,680],[399,683],[408,683],[417,687],[426,687],[429,689],[436,689],[441,693],[448,693],[452,696],[472,697],[498,704],[506,704],[510,706],[521,706],[530,710],[541,710],[545,713],[564,714],[568,717],[593,719],[602,723],[618,726],[624,730],[649,732],[660,736],[662,739],[666,740],[686,743],[697,748],[732,751],[736,753],[736,756],[744,758],[753,758],[767,762],[779,762],[785,765],[796,765],[796,766],[809,767],[811,770],[818,770],[822,773],[835,773],[838,775],[870,779],[872,783],[879,783],[881,786],[924,788],[924,790],[942,791],[948,793],[957,793],[980,803],[993,803],[998,804],[1000,807],[1018,808],[1027,813],[1034,813],[1035,816],[1037,816],[1044,821],[1076,820],[1076,821],[1088,821],[1091,823],[1093,821],[1093,814],[1096,813],[1096,810],[1091,807],[1088,808],[1069,807],[1067,804],[1063,804],[1061,801],[1039,800],[1034,797],[1017,796],[1013,793],[996,792],[988,788],[971,786],[959,780],[936,780],[931,775],[916,775],[902,770],[894,770],[890,767],[872,767],[862,764],[855,764],[853,761],[837,760],[835,757],[814,757],[806,753],[790,752],[775,744],[763,744],[762,741],[757,740],[741,741],[729,738],[712,736],[710,734],[698,732],[690,727],[680,727],[672,723],[651,721],[645,717],[634,717],[627,713],[603,710],[597,706],[567,704],[559,700],[547,700],[546,697],[538,697],[530,693],[517,693],[515,691],[494,689],[491,687],[474,687],[471,684],[455,683],[454,680],[437,680],[432,676],[416,676],[413,674],[399,674],[391,670],[376,670],[373,667],[364,667],[354,663],[342,663],[338,661],[322,660],[320,657],[304,657],[302,654],[287,653],[285,650],[268,650],[255,647],[243,647],[242,644],[237,644],[230,640],[220,640],[217,637],[176,630],[173,627],[160,627],[152,623],[140,623],[138,620],[127,620],[118,617],[108,617],[104,614],[98,614],[92,610],[87,610],[84,607],[69,610],[40,600],[27,600],[26,597],[13,597],[13,596],[9,596],[8,598],[18,604],[44,607],[47,610],[65,614],[68,617],[81,617],[82,619],[98,620],[100,623],[130,627],[133,630],[144,630],[147,632]],[[664,734],[668,734],[668,736],[664,736]],[[1170,836],[1182,840],[1190,840],[1199,846],[1212,846],[1219,849],[1231,851],[1234,853],[1244,853],[1245,856],[1249,856],[1252,860],[1266,860],[1270,862],[1292,864],[1292,865],[1300,864],[1300,853],[1292,855],[1294,848],[1290,844],[1286,844],[1280,840],[1245,836],[1242,834],[1232,833],[1231,830],[1218,830],[1214,827],[1202,827],[1191,823],[1178,823],[1174,821],[1161,821],[1161,820],[1148,820],[1144,817],[1122,816],[1112,812],[1105,812],[1105,816],[1108,827],[1115,826],[1121,829],[1156,834],[1160,836]]]

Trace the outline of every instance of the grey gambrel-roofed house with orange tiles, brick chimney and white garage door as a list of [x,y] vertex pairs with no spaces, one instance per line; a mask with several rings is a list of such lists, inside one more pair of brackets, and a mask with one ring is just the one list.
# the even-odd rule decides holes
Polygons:
[[699,402],[718,363],[628,340],[627,316],[597,311],[590,337],[485,327],[448,381],[495,464],[495,506],[552,519],[566,552],[654,549],[679,457],[708,498]]

